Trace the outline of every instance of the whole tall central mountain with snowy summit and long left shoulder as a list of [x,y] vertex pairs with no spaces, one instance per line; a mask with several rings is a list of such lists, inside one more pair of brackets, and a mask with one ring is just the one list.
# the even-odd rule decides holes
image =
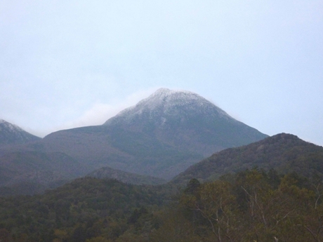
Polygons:
[[214,152],[265,137],[195,93],[161,88],[102,126],[60,130],[41,145],[93,170],[109,166],[169,180]]

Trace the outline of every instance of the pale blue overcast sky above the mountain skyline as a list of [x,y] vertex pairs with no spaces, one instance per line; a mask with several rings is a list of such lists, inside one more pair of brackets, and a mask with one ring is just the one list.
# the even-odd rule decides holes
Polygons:
[[43,137],[160,87],[323,145],[323,1],[0,1],[0,119]]

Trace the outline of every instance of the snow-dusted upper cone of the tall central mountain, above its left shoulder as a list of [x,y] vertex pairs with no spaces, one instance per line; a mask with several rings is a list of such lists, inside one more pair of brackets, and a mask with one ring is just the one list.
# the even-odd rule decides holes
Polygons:
[[167,88],[160,88],[136,106],[120,112],[104,126],[140,132],[203,156],[268,136],[233,119],[196,93]]

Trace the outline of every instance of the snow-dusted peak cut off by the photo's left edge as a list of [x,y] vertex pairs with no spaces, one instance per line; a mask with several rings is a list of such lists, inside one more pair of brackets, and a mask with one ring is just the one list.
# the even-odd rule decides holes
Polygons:
[[20,127],[0,119],[0,147],[8,144],[25,144],[40,139],[40,137],[27,133]]

